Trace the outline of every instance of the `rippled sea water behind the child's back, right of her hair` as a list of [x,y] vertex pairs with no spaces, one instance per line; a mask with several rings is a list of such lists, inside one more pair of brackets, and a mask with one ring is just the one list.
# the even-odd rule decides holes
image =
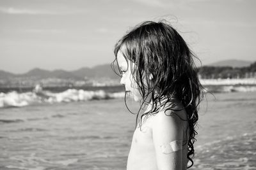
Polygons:
[[256,169],[256,92],[207,95],[193,169]]

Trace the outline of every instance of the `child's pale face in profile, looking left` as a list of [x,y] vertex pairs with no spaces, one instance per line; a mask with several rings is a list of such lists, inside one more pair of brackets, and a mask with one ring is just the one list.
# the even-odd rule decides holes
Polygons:
[[120,83],[122,85],[125,85],[125,91],[130,93],[130,95],[134,98],[134,101],[140,101],[141,94],[138,90],[138,85],[131,73],[131,61],[126,60],[123,53],[120,52],[120,50],[117,53],[116,60],[118,62],[119,69],[122,73]]

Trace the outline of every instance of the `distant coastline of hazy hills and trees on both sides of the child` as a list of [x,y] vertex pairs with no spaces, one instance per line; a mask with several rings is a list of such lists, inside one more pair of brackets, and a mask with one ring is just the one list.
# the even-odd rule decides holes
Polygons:
[[[202,66],[197,69],[200,81],[204,86],[256,85],[256,62],[223,60],[212,65],[214,66]],[[115,70],[118,71],[117,68]],[[24,74],[13,74],[0,70],[0,92],[31,91],[36,85],[42,86],[44,90],[51,89],[54,92],[61,92],[61,90],[67,89],[87,90],[95,87],[103,89],[104,87],[117,87],[120,86],[120,80],[109,64],[92,68],[83,67],[75,71],[61,69],[48,71],[35,68]]]

